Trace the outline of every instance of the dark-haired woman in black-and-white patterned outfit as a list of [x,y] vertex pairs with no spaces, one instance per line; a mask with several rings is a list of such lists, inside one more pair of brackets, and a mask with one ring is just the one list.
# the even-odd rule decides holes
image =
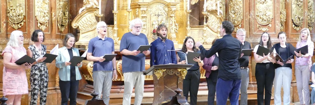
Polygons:
[[34,30],[31,41],[34,44],[27,49],[27,55],[36,62],[32,64],[30,82],[31,82],[31,105],[37,105],[38,92],[40,92],[40,105],[46,104],[47,87],[48,87],[48,69],[43,57],[46,53],[46,46],[42,43],[45,41],[42,30]]

